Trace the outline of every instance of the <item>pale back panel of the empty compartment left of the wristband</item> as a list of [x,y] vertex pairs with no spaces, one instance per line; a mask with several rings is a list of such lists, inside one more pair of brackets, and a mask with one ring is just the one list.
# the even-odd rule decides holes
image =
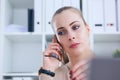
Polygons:
[[12,72],[37,72],[42,65],[41,43],[14,42]]

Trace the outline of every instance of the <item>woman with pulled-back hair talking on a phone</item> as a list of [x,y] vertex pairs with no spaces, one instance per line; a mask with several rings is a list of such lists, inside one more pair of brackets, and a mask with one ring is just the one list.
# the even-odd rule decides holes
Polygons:
[[[90,28],[82,13],[73,7],[62,7],[53,15],[52,26],[56,36],[43,53],[40,80],[86,80],[88,62],[93,54],[89,41]],[[51,57],[53,53],[59,58]],[[69,62],[59,66],[65,55]],[[55,73],[55,76],[50,76],[49,72],[50,75]]]

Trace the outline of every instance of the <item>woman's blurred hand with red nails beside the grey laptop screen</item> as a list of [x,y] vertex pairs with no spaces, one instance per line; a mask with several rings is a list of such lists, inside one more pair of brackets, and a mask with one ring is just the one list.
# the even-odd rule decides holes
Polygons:
[[70,71],[71,80],[87,80],[88,62],[81,61],[72,67]]

